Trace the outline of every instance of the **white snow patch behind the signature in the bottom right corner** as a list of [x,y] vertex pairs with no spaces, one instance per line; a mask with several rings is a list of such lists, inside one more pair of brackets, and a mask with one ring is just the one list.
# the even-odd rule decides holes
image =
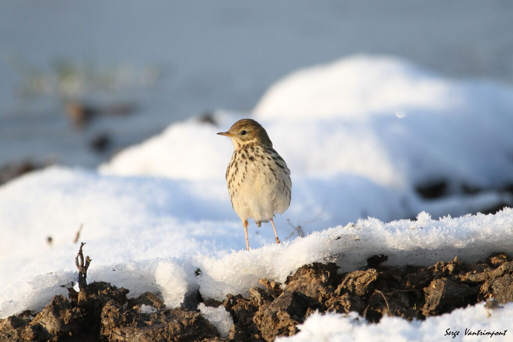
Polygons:
[[[423,321],[408,323],[403,318],[385,316],[379,324],[369,324],[357,313],[348,315],[314,313],[299,325],[300,332],[291,337],[277,337],[277,342],[307,341],[485,341],[511,340],[513,303],[503,308],[488,310],[483,304],[457,309],[441,316],[430,316]],[[466,330],[467,335],[465,335]],[[488,334],[487,334],[488,333]],[[496,335],[490,335],[496,333]],[[454,336],[454,337],[453,337]]]

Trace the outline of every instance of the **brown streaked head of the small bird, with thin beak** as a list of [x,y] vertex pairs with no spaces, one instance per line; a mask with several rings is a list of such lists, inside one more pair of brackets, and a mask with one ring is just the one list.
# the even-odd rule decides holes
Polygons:
[[220,132],[219,135],[226,135],[231,138],[235,150],[244,145],[265,145],[272,147],[271,140],[265,129],[255,120],[241,119],[234,123],[227,132]]

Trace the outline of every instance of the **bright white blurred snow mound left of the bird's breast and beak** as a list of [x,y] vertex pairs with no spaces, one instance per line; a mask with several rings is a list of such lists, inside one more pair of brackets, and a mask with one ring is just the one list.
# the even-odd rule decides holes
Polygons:
[[[238,116],[220,112],[215,120],[226,127],[226,131],[235,117]],[[99,169],[107,174],[119,175],[220,179],[231,156],[231,143],[228,139],[221,139],[215,134],[217,132],[220,132],[220,128],[195,119],[177,122],[142,144],[121,151]]]

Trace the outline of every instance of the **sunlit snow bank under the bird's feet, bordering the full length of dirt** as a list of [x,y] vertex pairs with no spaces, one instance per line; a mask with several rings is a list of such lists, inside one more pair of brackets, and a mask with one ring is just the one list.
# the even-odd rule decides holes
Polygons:
[[[307,182],[300,187],[319,188]],[[170,307],[195,290],[204,298],[223,299],[260,286],[262,277],[284,281],[315,261],[337,259],[340,270],[348,271],[376,253],[387,254],[389,264],[425,266],[456,255],[471,262],[497,250],[513,254],[513,209],[439,220],[421,213],[414,221],[387,224],[358,219],[323,231],[306,225],[309,235],[281,245],[273,243],[269,227],[251,228],[251,246],[262,247],[248,252],[225,191],[223,181],[106,176],[64,168],[35,172],[1,187],[0,316],[41,309],[52,295],[65,291],[62,285],[76,280],[78,244],[73,239],[81,224],[79,241],[87,242],[84,251],[92,258],[88,281],[109,281],[130,289],[132,296],[160,293]],[[310,198],[298,197],[291,212],[309,205]],[[342,217],[337,197],[333,203],[324,208],[329,216],[324,222]],[[283,238],[284,217],[277,223]]]

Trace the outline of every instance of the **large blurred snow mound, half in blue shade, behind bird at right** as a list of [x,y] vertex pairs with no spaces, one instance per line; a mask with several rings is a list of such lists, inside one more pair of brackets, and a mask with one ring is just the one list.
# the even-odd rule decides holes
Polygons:
[[333,166],[337,153],[328,146],[340,149],[347,164],[329,170],[392,185],[449,179],[457,191],[511,182],[513,137],[506,127],[513,125],[512,108],[511,87],[453,81],[402,59],[357,55],[285,77],[253,114],[288,125],[323,123],[303,136],[326,151],[318,165]]

